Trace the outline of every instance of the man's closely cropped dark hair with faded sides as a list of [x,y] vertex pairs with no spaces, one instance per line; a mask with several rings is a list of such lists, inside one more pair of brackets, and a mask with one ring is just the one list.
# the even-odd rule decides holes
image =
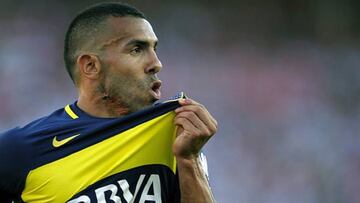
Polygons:
[[71,79],[74,78],[76,51],[84,45],[84,38],[96,35],[99,26],[108,17],[133,16],[145,19],[145,15],[133,6],[124,3],[100,3],[81,11],[70,23],[65,35],[64,62]]

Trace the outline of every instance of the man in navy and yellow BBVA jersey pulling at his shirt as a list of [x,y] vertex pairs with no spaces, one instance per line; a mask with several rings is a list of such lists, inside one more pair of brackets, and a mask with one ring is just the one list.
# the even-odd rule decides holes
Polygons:
[[217,122],[183,94],[153,105],[156,46],[129,5],[81,12],[64,50],[79,98],[0,135],[0,201],[214,202],[199,154]]

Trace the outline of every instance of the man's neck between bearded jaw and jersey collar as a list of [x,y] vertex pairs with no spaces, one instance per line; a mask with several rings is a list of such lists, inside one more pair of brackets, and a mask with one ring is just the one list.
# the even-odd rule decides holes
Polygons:
[[118,118],[129,113],[128,108],[121,105],[121,102],[107,97],[99,93],[79,93],[77,102],[78,107],[87,114],[99,118]]

